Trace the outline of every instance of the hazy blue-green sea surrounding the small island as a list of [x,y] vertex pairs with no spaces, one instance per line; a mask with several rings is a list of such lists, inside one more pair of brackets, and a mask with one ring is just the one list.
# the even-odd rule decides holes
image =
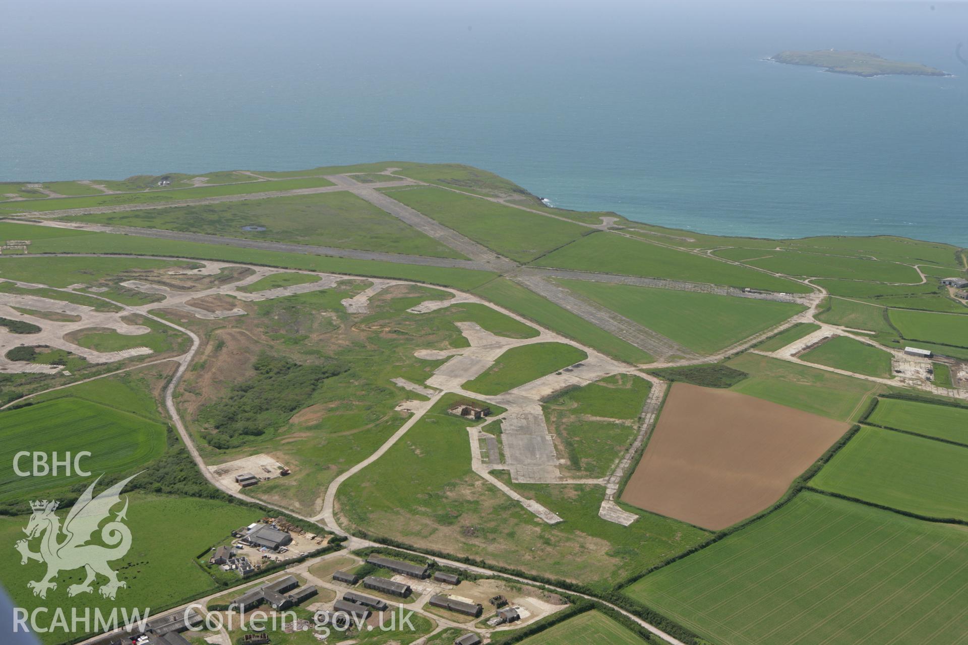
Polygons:
[[[771,63],[856,49],[942,78]],[[968,247],[968,3],[34,0],[0,181],[453,161],[702,232]]]

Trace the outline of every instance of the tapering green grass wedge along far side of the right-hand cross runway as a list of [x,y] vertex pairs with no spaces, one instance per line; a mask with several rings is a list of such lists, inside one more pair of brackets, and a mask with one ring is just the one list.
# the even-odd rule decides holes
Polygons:
[[809,293],[810,287],[710,257],[611,233],[592,233],[535,264],[625,276],[711,282],[768,291]]

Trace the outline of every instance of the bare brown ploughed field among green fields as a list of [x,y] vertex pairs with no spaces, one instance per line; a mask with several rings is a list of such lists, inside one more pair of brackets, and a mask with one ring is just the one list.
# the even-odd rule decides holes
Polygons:
[[770,507],[848,427],[753,396],[676,383],[621,500],[723,529]]

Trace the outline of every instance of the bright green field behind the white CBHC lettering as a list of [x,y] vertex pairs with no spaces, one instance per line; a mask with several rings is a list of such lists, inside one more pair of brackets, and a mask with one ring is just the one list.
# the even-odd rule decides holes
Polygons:
[[[95,475],[119,473],[165,453],[165,425],[123,410],[76,397],[0,412],[0,500],[28,497],[50,485],[64,486],[84,478],[63,473],[53,477],[19,477],[14,454],[20,451],[91,453],[81,463]],[[29,459],[20,463],[30,470]]]

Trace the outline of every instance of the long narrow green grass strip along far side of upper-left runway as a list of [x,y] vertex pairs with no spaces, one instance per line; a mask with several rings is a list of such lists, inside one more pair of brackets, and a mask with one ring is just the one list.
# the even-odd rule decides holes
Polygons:
[[332,182],[325,179],[308,178],[287,179],[274,182],[247,182],[243,184],[226,184],[224,186],[200,186],[198,188],[168,191],[101,193],[82,197],[58,197],[54,199],[30,199],[26,201],[7,202],[0,204],[0,213],[11,215],[14,213],[61,211],[75,208],[100,208],[103,206],[124,206],[127,204],[159,204],[178,199],[201,199],[204,197],[222,197],[226,195],[251,194],[267,191],[293,191],[296,189],[321,188],[332,185]]

